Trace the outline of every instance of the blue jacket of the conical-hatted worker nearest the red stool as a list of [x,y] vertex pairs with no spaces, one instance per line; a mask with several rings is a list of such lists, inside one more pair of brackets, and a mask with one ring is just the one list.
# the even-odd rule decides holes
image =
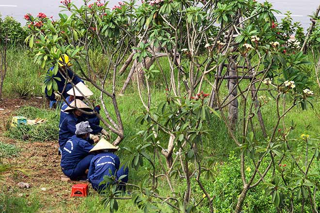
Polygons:
[[[103,176],[115,175],[120,167],[120,159],[112,152],[102,152],[94,156],[91,160],[88,178],[90,183],[99,184],[103,181]],[[109,169],[111,173],[109,173]]]

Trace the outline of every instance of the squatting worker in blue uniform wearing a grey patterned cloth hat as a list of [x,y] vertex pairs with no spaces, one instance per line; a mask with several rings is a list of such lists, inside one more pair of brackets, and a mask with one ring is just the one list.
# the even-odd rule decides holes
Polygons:
[[62,150],[61,168],[71,180],[86,180],[91,159],[89,153],[93,145],[88,142],[92,129],[89,122],[80,122],[76,125],[75,135],[69,137]]

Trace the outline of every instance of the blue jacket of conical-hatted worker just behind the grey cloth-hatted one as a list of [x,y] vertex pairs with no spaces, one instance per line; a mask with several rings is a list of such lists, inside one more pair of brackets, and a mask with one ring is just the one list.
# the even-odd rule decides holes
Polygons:
[[[63,150],[64,144],[67,142],[69,137],[72,137],[76,133],[76,124],[80,122],[87,121],[83,116],[76,117],[73,113],[69,113],[65,116],[64,120],[61,122],[59,126],[59,146],[60,149]],[[94,123],[89,122],[91,129],[93,130],[93,134],[97,134],[101,132],[102,127],[97,126]]]

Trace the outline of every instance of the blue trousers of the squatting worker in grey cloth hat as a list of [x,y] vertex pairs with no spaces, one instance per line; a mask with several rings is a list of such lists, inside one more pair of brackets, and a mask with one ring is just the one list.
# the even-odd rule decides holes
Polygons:
[[89,154],[86,157],[84,157],[82,160],[80,160],[80,162],[77,164],[76,167],[71,169],[62,169],[62,171],[66,176],[69,176],[71,180],[78,180],[83,176],[86,177],[87,174],[85,173],[85,170],[89,168],[91,159],[94,156],[95,155],[93,154]]

